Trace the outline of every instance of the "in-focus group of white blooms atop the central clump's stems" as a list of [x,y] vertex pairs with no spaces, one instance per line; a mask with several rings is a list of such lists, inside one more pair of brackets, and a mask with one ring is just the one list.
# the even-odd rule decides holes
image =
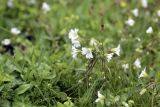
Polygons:
[[[99,51],[98,42],[97,40],[92,38],[89,44],[93,48],[81,47],[78,31],[78,29],[71,29],[68,34],[68,38],[71,40],[72,43],[72,58],[77,59],[78,53],[81,52],[81,54],[84,55],[86,59],[92,59],[94,57],[92,49],[96,48],[95,50]],[[111,53],[105,54],[108,62],[112,59],[113,55],[120,56],[120,44],[116,48],[111,49],[111,51]]]

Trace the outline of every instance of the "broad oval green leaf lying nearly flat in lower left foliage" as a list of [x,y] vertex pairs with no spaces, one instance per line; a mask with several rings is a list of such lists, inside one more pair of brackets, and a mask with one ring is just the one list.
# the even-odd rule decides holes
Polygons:
[[19,94],[23,94],[25,93],[28,89],[30,89],[32,87],[31,84],[23,84],[21,86],[19,86],[15,91],[16,91],[16,94],[19,95]]

